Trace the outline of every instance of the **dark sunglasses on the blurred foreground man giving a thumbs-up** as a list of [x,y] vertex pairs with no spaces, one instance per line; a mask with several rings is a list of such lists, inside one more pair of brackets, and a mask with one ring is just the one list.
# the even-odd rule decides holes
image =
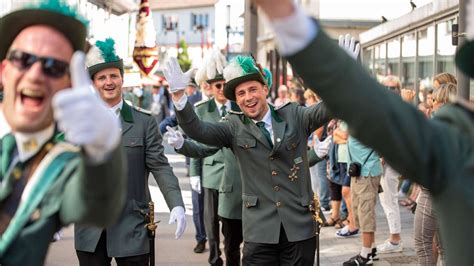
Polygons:
[[51,57],[40,57],[27,52],[12,50],[8,53],[7,59],[18,69],[24,71],[29,69],[36,62],[41,62],[41,70],[50,78],[61,78],[69,70],[67,62]]

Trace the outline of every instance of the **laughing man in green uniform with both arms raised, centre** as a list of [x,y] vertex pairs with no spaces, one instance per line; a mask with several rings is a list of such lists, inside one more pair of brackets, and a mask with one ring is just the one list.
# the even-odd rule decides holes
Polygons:
[[312,265],[316,238],[310,205],[308,136],[329,121],[323,105],[266,101],[267,78],[250,57],[236,57],[224,70],[224,94],[242,112],[219,123],[199,120],[186,104],[183,74],[172,58],[164,74],[170,83],[180,126],[191,138],[234,152],[242,177],[244,265]]

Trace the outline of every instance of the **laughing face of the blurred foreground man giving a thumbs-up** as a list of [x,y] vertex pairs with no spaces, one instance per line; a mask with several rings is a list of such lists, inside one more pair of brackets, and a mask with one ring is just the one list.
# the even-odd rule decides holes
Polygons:
[[[10,50],[64,62],[69,62],[73,54],[73,48],[64,35],[43,25],[21,31]],[[68,74],[55,78],[47,76],[41,64],[37,61],[21,69],[10,60],[1,62],[3,113],[13,132],[35,132],[51,125],[54,121],[51,106],[54,94],[71,86]]]

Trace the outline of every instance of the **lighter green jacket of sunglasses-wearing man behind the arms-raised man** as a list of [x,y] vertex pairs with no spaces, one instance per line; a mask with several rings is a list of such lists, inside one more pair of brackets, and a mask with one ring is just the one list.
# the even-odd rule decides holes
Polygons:
[[[236,110],[237,108],[235,103],[232,103],[232,109]],[[195,110],[203,121],[219,122],[222,119],[214,98],[196,103]],[[202,187],[219,190],[221,176],[224,173],[224,157],[223,150],[219,150],[204,159],[191,158],[189,175],[201,176]]]

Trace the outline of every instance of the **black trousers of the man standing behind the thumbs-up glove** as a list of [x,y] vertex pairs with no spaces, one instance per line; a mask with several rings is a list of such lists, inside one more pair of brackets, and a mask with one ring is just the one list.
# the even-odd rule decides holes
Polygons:
[[[80,266],[110,266],[112,258],[107,255],[106,232],[102,231],[99,242],[94,252],[76,250]],[[148,266],[150,254],[115,258],[118,266]]]

